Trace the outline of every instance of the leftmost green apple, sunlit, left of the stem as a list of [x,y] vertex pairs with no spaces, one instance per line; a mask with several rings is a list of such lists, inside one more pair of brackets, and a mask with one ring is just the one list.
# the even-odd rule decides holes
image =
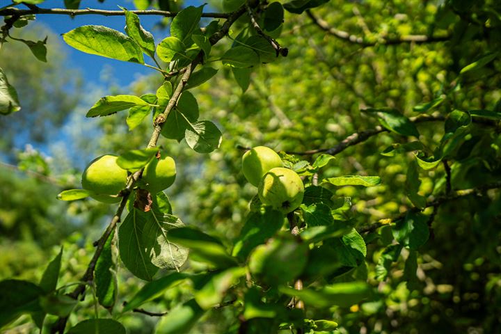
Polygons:
[[91,196],[95,200],[105,203],[119,202],[117,195],[127,184],[127,170],[120,168],[116,163],[117,157],[105,154],[97,157],[84,170],[82,174],[82,188],[93,191]]

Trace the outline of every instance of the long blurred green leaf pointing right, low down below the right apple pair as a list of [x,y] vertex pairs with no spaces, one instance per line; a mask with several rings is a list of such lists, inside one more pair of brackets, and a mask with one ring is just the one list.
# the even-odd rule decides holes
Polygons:
[[296,296],[306,305],[328,308],[333,305],[348,307],[359,303],[372,295],[372,290],[365,282],[337,283],[326,285],[322,289],[296,290],[292,287],[278,287],[278,290],[289,296]]

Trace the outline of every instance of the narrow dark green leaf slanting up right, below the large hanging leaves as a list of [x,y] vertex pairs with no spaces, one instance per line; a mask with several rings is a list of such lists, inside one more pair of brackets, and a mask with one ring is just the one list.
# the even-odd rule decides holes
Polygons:
[[146,283],[124,306],[122,313],[132,311],[134,308],[143,305],[143,303],[161,296],[166,289],[175,287],[175,285],[182,283],[186,278],[189,278],[189,274],[175,272],[159,278],[158,280],[152,280]]

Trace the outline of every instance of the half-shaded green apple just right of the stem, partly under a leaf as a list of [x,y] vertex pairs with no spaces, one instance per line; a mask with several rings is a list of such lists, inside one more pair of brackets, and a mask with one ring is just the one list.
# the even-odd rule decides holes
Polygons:
[[171,157],[153,158],[143,170],[145,189],[150,193],[158,193],[167,189],[175,181],[176,169],[174,159]]

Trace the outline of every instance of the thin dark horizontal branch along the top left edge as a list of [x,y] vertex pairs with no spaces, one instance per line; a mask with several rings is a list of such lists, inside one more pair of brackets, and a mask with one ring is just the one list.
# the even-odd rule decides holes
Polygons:
[[[70,15],[72,17],[78,15],[104,15],[104,16],[123,16],[123,10],[102,10],[102,9],[65,9],[65,8],[40,8],[38,6],[30,6],[30,9],[19,9],[15,7],[8,7],[0,10],[0,16],[14,15],[17,17],[26,15],[38,14],[51,14],[51,15]],[[137,15],[159,15],[164,17],[175,17],[177,12],[168,12],[166,10],[130,10],[130,12]],[[226,19],[230,17],[231,13],[202,13],[202,17],[213,17],[216,19]]]

